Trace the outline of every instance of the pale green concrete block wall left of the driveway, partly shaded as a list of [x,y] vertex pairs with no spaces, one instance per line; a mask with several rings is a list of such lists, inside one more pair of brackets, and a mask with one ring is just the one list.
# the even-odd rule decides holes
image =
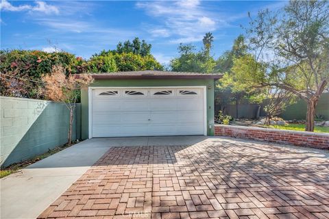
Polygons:
[[[35,157],[67,141],[69,110],[62,103],[0,96],[1,168]],[[81,138],[76,105],[73,140]]]

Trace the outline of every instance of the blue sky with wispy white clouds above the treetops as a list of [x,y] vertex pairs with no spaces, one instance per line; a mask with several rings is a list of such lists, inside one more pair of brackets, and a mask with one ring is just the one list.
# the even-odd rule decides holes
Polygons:
[[1,1],[1,49],[61,49],[84,58],[117,42],[145,39],[162,63],[180,42],[200,48],[211,31],[215,57],[232,47],[247,13],[284,1]]

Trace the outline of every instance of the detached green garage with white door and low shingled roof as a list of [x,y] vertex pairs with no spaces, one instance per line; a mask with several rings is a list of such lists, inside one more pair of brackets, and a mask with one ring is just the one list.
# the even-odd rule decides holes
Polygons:
[[154,70],[93,75],[82,90],[82,137],[212,136],[221,75]]

